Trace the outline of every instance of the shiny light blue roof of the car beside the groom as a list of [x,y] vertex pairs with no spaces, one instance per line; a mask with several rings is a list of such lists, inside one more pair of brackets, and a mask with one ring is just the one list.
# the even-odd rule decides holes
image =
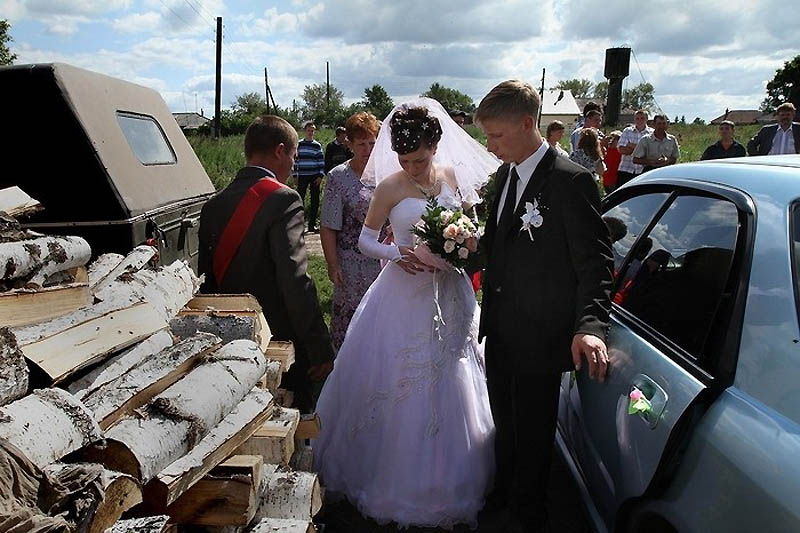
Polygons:
[[630,184],[676,180],[733,187],[749,194],[756,201],[759,195],[766,195],[774,201],[791,203],[800,198],[800,155],[737,157],[681,163],[651,170]]

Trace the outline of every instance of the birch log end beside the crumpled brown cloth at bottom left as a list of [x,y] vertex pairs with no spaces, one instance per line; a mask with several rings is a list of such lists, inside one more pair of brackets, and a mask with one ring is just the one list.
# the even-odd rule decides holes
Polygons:
[[[102,500],[91,513],[89,533],[103,533],[122,516],[122,513],[142,501],[142,488],[135,479],[119,472],[106,470],[100,465],[53,463],[43,474],[52,480],[74,479],[77,472],[99,471],[97,484],[102,489]],[[85,475],[85,474],[84,474]],[[60,483],[59,483],[60,484]],[[98,491],[99,495],[99,491]],[[82,502],[84,505],[88,502]]]

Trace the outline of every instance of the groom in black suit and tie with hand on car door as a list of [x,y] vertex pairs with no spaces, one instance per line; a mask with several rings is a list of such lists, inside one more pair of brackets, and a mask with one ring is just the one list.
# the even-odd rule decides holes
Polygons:
[[505,81],[475,119],[503,161],[486,234],[480,338],[486,337],[497,475],[487,507],[522,531],[546,528],[545,489],[562,372],[608,368],[611,241],[592,175],[543,142],[539,95]]

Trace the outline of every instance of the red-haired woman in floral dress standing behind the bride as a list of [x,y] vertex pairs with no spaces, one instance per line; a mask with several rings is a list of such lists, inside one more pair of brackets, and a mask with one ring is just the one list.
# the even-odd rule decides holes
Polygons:
[[337,351],[361,298],[381,270],[378,260],[358,250],[358,237],[374,190],[361,183],[361,173],[375,146],[380,122],[371,113],[356,113],[347,120],[345,129],[354,155],[328,174],[320,228],[328,277],[333,282],[330,332]]

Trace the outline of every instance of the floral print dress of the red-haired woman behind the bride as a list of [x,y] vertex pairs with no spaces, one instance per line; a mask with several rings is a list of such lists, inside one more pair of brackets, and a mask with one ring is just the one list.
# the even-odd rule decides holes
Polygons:
[[321,225],[337,232],[336,252],[344,279],[342,287],[333,288],[330,332],[337,351],[361,298],[381,270],[378,260],[358,250],[358,237],[374,190],[361,183],[349,161],[333,168],[325,184]]

